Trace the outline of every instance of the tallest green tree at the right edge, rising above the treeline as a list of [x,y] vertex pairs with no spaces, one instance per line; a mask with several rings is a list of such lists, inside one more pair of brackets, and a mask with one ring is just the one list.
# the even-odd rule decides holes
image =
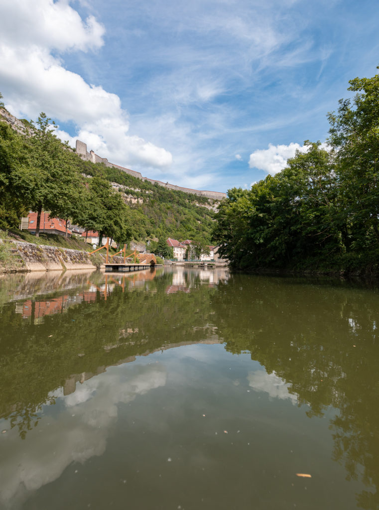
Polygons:
[[329,142],[334,147],[346,230],[353,251],[372,250],[379,243],[379,75],[355,78],[328,114]]

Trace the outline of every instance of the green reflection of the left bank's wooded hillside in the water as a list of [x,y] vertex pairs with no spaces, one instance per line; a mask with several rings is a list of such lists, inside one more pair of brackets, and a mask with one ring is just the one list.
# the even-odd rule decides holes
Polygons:
[[[201,285],[197,272],[186,275],[191,292],[170,296],[165,290],[172,284],[172,273],[141,280],[140,286],[132,277],[125,277],[124,289],[114,285],[106,301],[98,290],[95,300],[45,315],[43,322],[36,322],[33,314],[22,318],[14,303],[1,309],[0,417],[17,426],[22,438],[38,424],[41,406],[55,403],[50,392],[73,374],[95,375],[133,356],[214,334],[209,297],[215,289]],[[100,288],[99,273],[93,278]],[[75,296],[78,291],[69,292]],[[57,296],[49,294],[48,299]]]

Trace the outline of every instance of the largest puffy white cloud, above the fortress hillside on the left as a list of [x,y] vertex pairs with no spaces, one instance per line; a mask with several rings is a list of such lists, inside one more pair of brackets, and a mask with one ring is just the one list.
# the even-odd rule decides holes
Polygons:
[[71,145],[79,138],[113,163],[147,167],[172,163],[170,152],[164,148],[128,134],[128,114],[116,94],[86,83],[50,53],[100,47],[104,28],[93,16],[84,22],[63,0],[16,0],[0,5],[0,18],[4,28],[0,79],[12,113],[36,118],[43,110],[60,121],[73,122],[77,137],[62,130],[57,135]]

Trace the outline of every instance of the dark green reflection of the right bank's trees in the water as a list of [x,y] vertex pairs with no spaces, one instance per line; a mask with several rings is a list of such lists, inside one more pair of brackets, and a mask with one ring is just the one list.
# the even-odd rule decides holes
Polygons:
[[[247,279],[250,280],[249,284]],[[377,295],[342,285],[236,275],[213,297],[226,349],[250,352],[289,384],[309,417],[333,406],[332,458],[367,487],[362,508],[379,508],[379,324]]]

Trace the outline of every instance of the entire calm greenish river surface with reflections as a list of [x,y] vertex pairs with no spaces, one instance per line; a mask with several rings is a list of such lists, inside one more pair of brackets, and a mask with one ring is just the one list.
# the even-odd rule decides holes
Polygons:
[[0,325],[2,509],[379,508],[375,288],[11,274]]

